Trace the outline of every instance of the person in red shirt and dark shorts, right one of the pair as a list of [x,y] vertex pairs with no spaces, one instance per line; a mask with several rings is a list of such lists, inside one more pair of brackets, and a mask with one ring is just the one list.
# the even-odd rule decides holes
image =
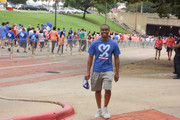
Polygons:
[[170,33],[169,38],[167,38],[167,40],[166,40],[168,60],[171,60],[174,44],[175,44],[175,39],[173,38],[173,34]]

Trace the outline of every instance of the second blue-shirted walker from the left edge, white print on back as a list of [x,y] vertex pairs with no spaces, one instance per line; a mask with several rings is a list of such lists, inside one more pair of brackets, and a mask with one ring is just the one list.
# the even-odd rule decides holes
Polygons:
[[8,51],[11,51],[11,43],[13,43],[15,35],[14,33],[11,31],[11,27],[9,28],[9,31],[6,33],[6,38],[8,39]]

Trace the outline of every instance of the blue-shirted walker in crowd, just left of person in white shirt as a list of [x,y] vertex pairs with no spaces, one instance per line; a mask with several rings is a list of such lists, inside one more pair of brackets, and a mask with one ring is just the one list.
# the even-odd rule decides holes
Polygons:
[[34,50],[34,51],[37,48],[37,40],[38,40],[38,38],[39,37],[36,34],[36,31],[34,31],[34,33],[29,36],[31,49]]

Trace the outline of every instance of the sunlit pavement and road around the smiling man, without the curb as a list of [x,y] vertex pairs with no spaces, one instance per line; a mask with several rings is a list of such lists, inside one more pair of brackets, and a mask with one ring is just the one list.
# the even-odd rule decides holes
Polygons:
[[[154,50],[147,48],[131,48],[121,52],[121,65],[154,57]],[[64,101],[72,105],[77,112],[69,120],[92,119],[96,112],[94,93],[82,87],[87,57],[86,53],[81,55],[76,53],[73,56],[65,53],[63,56],[50,55],[49,58],[39,55],[31,60],[30,56],[17,55],[13,59],[14,62],[9,62],[8,58],[1,57],[1,96]],[[178,80],[120,76],[120,81],[113,83],[109,111],[113,115],[113,119],[115,115],[121,116],[119,114],[124,115],[124,113],[149,109],[180,118],[179,86]],[[0,100],[0,109],[0,118],[7,118],[61,108],[43,103]],[[122,120],[128,120],[128,118]]]

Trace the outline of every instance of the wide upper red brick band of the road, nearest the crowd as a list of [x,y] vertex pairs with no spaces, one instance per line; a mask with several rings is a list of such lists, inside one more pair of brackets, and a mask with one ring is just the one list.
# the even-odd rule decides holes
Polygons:
[[[29,61],[26,61],[26,62],[29,62]],[[34,61],[33,63],[40,64],[39,61],[38,62]],[[32,62],[31,62],[28,65],[36,65],[36,64],[32,64]],[[16,66],[14,66],[15,68],[0,69],[0,78],[8,78],[8,77],[16,77],[16,76],[44,73],[47,71],[72,70],[72,69],[78,69],[78,68],[85,67],[85,66],[78,66],[78,65],[71,65],[71,64],[69,65],[68,63],[52,63],[52,64],[46,64],[46,65],[42,64],[42,65],[37,65],[37,66],[24,66],[24,67],[16,67]],[[12,67],[12,66],[10,66],[10,67]]]

